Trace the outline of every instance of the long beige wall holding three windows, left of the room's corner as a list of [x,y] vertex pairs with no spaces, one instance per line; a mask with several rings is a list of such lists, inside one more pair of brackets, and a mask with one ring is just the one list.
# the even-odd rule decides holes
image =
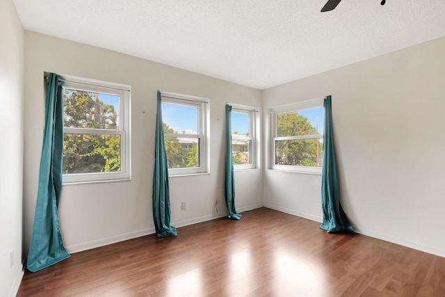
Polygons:
[[[217,218],[224,204],[225,103],[261,109],[261,92],[97,47],[25,31],[24,230],[29,247],[43,128],[43,72],[68,74],[131,85],[131,167],[127,182],[63,186],[60,227],[69,252],[154,233],[152,172],[156,91],[210,99],[210,168],[208,175],[170,178],[172,225]],[[261,170],[236,172],[238,211],[260,207]],[[181,210],[181,202],[187,210]],[[179,231],[180,233],[180,231]]]

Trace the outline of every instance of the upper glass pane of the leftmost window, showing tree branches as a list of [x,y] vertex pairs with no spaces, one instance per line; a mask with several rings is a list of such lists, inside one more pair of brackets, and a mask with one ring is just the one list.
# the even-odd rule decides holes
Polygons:
[[119,129],[119,96],[65,89],[63,126]]

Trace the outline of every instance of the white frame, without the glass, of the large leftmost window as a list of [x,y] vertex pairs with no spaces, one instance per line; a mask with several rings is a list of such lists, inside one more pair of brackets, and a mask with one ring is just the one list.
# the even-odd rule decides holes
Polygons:
[[122,83],[111,83],[81,77],[61,76],[65,80],[63,89],[80,90],[90,93],[101,93],[119,96],[119,122],[118,129],[89,129],[63,127],[63,134],[104,134],[120,136],[120,171],[119,172],[91,172],[63,174],[63,184],[110,182],[131,179],[130,159],[130,100],[131,86]]

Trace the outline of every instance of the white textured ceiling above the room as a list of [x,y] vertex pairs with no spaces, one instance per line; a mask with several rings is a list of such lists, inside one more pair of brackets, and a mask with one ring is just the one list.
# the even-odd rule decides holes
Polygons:
[[[445,0],[14,0],[24,29],[265,89],[445,35]],[[444,53],[445,54],[445,53]]]

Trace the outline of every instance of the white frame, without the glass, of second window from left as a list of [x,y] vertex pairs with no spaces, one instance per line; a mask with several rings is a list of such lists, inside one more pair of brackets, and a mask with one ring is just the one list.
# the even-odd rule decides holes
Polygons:
[[162,103],[197,108],[197,134],[164,133],[164,137],[198,138],[200,166],[193,168],[168,168],[171,177],[209,173],[209,109],[210,100],[202,97],[161,91]]

